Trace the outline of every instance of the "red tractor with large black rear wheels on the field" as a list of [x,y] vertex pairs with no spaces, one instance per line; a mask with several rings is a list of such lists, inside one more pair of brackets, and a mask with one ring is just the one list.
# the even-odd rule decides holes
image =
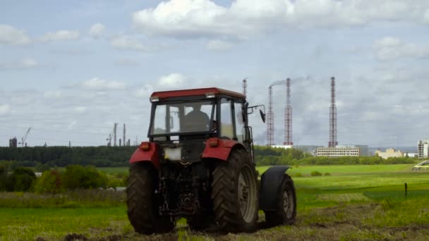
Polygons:
[[149,142],[131,156],[126,189],[136,232],[168,232],[178,218],[197,230],[250,232],[258,210],[268,225],[294,223],[289,167],[273,166],[258,180],[248,114],[259,106],[219,88],[154,92],[150,101]]

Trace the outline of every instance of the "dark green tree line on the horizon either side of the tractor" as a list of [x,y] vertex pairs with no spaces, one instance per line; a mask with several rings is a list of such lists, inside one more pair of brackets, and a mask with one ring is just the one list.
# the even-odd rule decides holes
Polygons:
[[[11,170],[18,166],[46,171],[68,165],[119,167],[128,166],[128,160],[137,147],[0,147],[0,160],[8,161]],[[255,146],[258,166],[273,165],[341,165],[414,163],[407,157],[382,159],[380,156],[342,156],[337,158],[313,156],[298,149]]]

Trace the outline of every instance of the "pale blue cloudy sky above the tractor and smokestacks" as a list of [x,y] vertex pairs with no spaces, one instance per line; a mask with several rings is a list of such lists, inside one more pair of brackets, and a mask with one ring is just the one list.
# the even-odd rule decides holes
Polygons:
[[[0,146],[147,140],[150,94],[221,87],[268,102],[291,78],[294,144],[412,147],[429,138],[427,0],[0,0]],[[284,87],[274,86],[275,142]],[[266,125],[250,118],[256,144]]]

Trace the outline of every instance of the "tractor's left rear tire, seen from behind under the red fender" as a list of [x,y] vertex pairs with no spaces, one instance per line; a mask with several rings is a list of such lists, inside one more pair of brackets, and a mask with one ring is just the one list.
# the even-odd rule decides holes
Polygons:
[[126,204],[128,219],[137,233],[165,233],[174,228],[169,217],[158,214],[155,178],[157,175],[150,163],[132,164],[126,187]]

